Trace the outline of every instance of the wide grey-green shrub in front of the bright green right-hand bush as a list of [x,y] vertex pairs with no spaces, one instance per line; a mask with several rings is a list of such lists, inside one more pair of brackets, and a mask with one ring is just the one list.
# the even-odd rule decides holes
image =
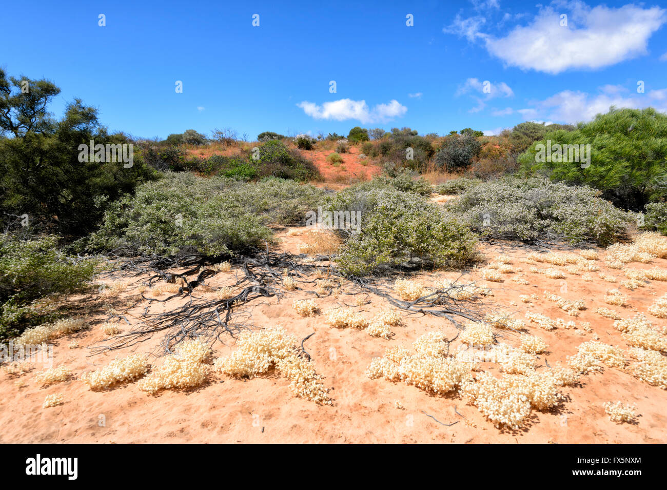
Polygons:
[[590,187],[504,177],[470,187],[450,209],[484,237],[524,241],[623,239],[632,215]]

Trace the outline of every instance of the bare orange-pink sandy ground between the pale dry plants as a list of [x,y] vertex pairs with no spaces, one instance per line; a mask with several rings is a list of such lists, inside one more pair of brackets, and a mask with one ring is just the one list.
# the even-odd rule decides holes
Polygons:
[[[297,253],[303,230],[282,232],[281,249]],[[520,285],[511,281],[513,274],[503,275],[501,283],[481,280],[476,269],[466,271],[461,281],[479,281],[494,293],[488,297],[485,309],[515,311],[515,317],[523,318],[526,311],[541,312],[552,319],[562,318],[590,322],[592,332],[576,335],[572,329],[544,331],[527,323],[527,330],[548,343],[546,355],[538,362],[556,365],[566,363],[566,357],[576,353],[577,346],[599,337],[600,341],[619,345],[627,350],[628,344],[620,332],[613,328],[613,320],[595,313],[597,307],[618,311],[624,318],[637,312],[647,313],[654,300],[667,293],[667,283],[650,281],[646,287],[629,291],[620,285],[622,272],[607,269],[604,261],[596,261],[602,273],[618,277],[617,283],[598,278],[584,282],[581,276],[566,273],[566,279],[548,279],[542,274],[530,273],[532,266],[554,267],[546,264],[524,263],[528,249],[504,249],[502,253],[512,257],[513,267],[523,269],[530,282]],[[500,249],[486,247],[484,253],[493,259]],[[632,263],[630,267],[667,268],[667,260],[654,259],[650,264]],[[206,281],[215,289],[229,283],[235,274],[219,273]],[[460,272],[422,273],[418,279],[426,285],[442,277],[454,279]],[[313,278],[302,279],[308,281]],[[107,282],[109,279],[105,279]],[[72,301],[84,304],[113,303],[123,311],[133,324],[141,321],[147,302],[137,303],[135,286],[113,298],[99,295],[76,297]],[[564,289],[564,286],[566,289]],[[604,303],[607,289],[618,288],[630,298],[628,307],[615,307]],[[313,284],[301,283],[301,289],[287,291],[282,299],[256,300],[248,307],[251,321],[257,327],[272,327],[281,323],[287,331],[301,339],[310,333],[313,337],[305,343],[312,362],[323,383],[331,390],[333,405],[321,406],[311,401],[295,398],[288,382],[279,373],[249,380],[237,380],[211,370],[209,381],[197,389],[162,391],[157,396],[139,391],[135,383],[121,385],[107,391],[91,391],[79,377],[85,371],[106,365],[115,355],[127,355],[131,351],[150,351],[159,342],[154,337],[120,353],[91,356],[87,346],[103,341],[105,335],[100,325],[106,319],[99,313],[91,316],[91,328],[54,341],[54,365],[67,365],[75,378],[50,387],[41,387],[33,379],[41,367],[19,377],[0,372],[0,433],[2,443],[665,443],[667,442],[667,391],[650,386],[630,373],[630,369],[605,368],[602,373],[583,376],[575,387],[566,387],[564,403],[547,412],[533,411],[530,422],[520,431],[496,429],[466,400],[450,396],[432,396],[414,386],[392,383],[385,379],[368,379],[364,374],[374,357],[384,354],[394,345],[409,345],[420,335],[442,328],[456,335],[456,327],[446,319],[404,315],[404,325],[394,327],[396,335],[391,340],[370,337],[364,330],[336,329],[325,323],[323,315],[301,318],[292,309],[293,299],[313,297],[303,289],[314,289]],[[203,291],[203,289],[202,289]],[[566,299],[584,299],[587,309],[578,317],[570,317],[555,303],[546,301],[543,292],[549,291]],[[316,299],[321,311],[337,304],[354,305],[356,296],[341,291]],[[354,292],[348,289],[348,292]],[[197,293],[197,295],[213,293]],[[536,294],[539,300],[522,303],[518,295]],[[166,295],[165,295],[166,297]],[[384,299],[368,296],[372,303],[356,307],[366,317],[387,303]],[[153,304],[149,311],[155,313],[173,308],[183,299]],[[654,325],[664,325],[664,320],[648,315]],[[125,326],[125,330],[129,327]],[[499,340],[516,345],[515,333],[498,331]],[[69,343],[77,340],[81,347],[70,349]],[[457,349],[455,341],[452,349]],[[215,355],[228,355],[233,341],[227,345],[215,345]],[[157,360],[159,363],[159,360]],[[487,365],[488,364],[488,365]],[[490,363],[484,369],[497,372]],[[546,369],[546,366],[540,369]],[[18,387],[16,381],[25,385]],[[42,407],[46,395],[61,393],[64,402],[57,407]],[[606,401],[634,403],[640,415],[638,423],[622,425],[612,423],[604,413]],[[399,402],[404,409],[396,408]],[[456,422],[456,423],[455,423]],[[442,424],[451,424],[446,426]]]

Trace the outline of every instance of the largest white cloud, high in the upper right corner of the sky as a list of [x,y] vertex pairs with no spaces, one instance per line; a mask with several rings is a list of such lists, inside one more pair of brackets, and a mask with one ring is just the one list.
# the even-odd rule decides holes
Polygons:
[[[667,21],[660,7],[605,5],[589,7],[581,1],[554,2],[544,7],[525,26],[517,26],[505,37],[492,37],[480,29],[484,17],[462,19],[443,29],[469,41],[482,40],[490,54],[507,65],[524,70],[561,73],[568,69],[597,69],[646,54],[651,35]],[[568,25],[560,15],[568,11]],[[667,55],[667,53],[666,53]]]

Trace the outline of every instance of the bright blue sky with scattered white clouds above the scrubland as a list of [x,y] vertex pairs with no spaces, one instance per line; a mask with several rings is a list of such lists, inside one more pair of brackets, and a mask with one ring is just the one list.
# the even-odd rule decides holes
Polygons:
[[81,97],[139,137],[492,134],[611,104],[667,111],[666,24],[667,5],[651,1],[7,2],[0,65],[61,87],[56,115]]

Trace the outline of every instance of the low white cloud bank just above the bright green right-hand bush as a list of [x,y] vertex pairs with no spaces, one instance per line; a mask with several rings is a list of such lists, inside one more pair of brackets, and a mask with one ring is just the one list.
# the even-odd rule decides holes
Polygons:
[[609,93],[609,91],[602,90],[600,93],[591,95],[581,91],[564,90],[542,101],[533,102],[531,105],[534,107],[517,111],[526,121],[539,117],[562,123],[578,123],[590,121],[596,115],[608,112],[612,105],[618,109],[654,107],[657,111],[667,112],[667,89],[626,95],[620,91]]

